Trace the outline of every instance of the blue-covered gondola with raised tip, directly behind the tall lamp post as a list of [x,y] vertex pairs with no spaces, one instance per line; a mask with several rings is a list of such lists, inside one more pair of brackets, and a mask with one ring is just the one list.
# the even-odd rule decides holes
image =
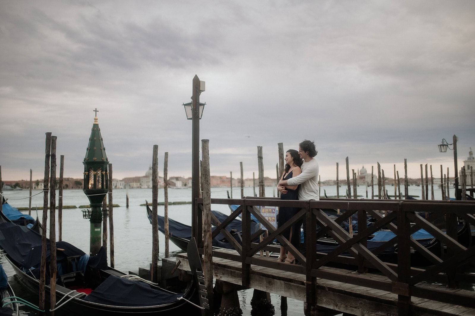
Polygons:
[[[145,201],[147,207],[147,217],[152,223],[152,210],[147,201]],[[219,211],[211,211],[218,221],[221,223],[228,217],[228,215],[223,214]],[[165,218],[161,215],[157,215],[158,217],[158,230],[162,233],[165,233]],[[186,251],[188,242],[191,239],[191,226],[177,222],[172,220],[171,218],[168,219],[168,227],[169,227],[169,238],[170,241],[177,245],[182,251]],[[260,225],[257,223],[253,223],[251,226],[251,234],[257,232],[259,230]],[[216,227],[211,228],[213,231]],[[228,224],[226,227],[228,232],[231,233],[232,236],[237,240],[239,244],[242,243],[241,232],[242,232],[242,222],[240,220],[235,219],[231,223]],[[232,244],[228,242],[226,237],[219,233],[213,240],[211,241],[213,247],[224,248],[224,249],[234,249]]]

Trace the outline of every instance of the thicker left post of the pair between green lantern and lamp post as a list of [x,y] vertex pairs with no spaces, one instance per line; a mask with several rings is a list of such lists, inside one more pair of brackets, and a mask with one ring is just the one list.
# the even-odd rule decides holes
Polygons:
[[[196,184],[195,184],[196,185]],[[152,282],[157,282],[158,265],[158,145],[153,145],[152,154]]]

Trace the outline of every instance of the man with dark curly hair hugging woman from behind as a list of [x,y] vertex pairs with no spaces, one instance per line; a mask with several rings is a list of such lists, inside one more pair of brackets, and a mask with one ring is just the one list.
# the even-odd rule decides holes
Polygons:
[[[287,190],[285,186],[296,186],[299,185],[298,199],[299,200],[320,200],[320,195],[318,194],[318,163],[314,158],[318,151],[315,148],[315,143],[313,141],[305,139],[300,144],[298,144],[298,153],[300,158],[304,159],[302,165],[302,173],[296,177],[290,178],[288,180],[280,180],[277,184],[277,190],[280,193],[285,194]],[[301,244],[301,252],[303,255],[306,254],[306,225],[305,218],[303,220],[304,224],[304,243]]]

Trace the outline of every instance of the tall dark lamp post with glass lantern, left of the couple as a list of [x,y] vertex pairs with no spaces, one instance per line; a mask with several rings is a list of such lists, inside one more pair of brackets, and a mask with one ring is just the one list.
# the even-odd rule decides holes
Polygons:
[[[198,210],[199,198],[199,120],[203,115],[206,103],[199,102],[199,95],[205,91],[205,82],[199,81],[198,75],[193,78],[190,103],[183,103],[186,117],[191,121],[191,236],[197,244],[202,241],[203,214]],[[198,106],[199,104],[199,106]]]

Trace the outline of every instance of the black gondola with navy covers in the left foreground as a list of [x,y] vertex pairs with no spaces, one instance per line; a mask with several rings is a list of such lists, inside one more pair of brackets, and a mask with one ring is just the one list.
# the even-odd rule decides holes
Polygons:
[[[56,298],[58,311],[67,315],[172,315],[198,313],[190,302],[199,302],[196,281],[184,293],[173,293],[107,266],[104,247],[89,257],[75,246],[61,241],[57,246]],[[41,235],[0,215],[0,248],[17,273],[19,282],[38,294]],[[49,266],[49,241],[47,242]],[[49,269],[47,268],[47,271]],[[45,296],[50,297],[50,277]],[[64,299],[63,299],[64,298]]]

